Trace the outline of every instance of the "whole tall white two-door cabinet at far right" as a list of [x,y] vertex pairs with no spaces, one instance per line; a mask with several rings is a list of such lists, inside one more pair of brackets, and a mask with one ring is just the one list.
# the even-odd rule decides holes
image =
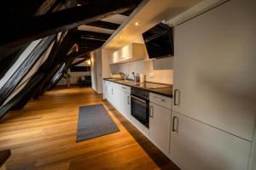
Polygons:
[[255,1],[175,28],[170,154],[183,170],[247,169],[255,122]]

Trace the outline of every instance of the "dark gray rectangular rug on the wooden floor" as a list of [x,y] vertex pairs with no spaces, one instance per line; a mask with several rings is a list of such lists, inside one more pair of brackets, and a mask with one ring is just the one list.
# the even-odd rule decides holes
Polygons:
[[77,142],[116,132],[119,132],[119,127],[102,104],[79,108]]

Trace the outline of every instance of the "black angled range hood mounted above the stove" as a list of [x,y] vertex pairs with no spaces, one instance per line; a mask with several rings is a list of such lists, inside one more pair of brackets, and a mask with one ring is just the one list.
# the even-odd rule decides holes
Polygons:
[[170,57],[174,54],[172,27],[160,23],[143,33],[149,59]]

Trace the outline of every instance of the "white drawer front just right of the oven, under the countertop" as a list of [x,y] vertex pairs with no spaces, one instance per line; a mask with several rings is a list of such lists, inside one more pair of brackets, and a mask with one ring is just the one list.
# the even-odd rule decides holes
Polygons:
[[172,109],[172,98],[168,98],[166,96],[162,96],[159,94],[150,93],[149,100],[154,104],[161,105],[168,109]]

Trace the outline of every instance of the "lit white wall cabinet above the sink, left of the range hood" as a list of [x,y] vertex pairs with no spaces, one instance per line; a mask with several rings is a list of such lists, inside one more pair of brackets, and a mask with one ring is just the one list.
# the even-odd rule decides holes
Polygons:
[[130,43],[124,48],[110,54],[110,64],[125,63],[145,58],[145,45],[143,43]]

